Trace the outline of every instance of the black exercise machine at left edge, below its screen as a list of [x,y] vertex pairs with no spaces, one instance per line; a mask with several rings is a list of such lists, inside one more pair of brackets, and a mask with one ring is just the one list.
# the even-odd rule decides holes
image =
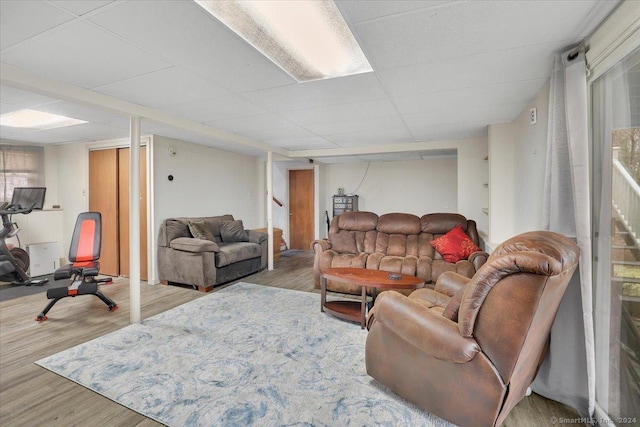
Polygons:
[[0,217],[2,218],[2,229],[0,229],[0,280],[11,282],[13,285],[23,286],[42,286],[49,279],[32,279],[27,274],[29,270],[29,254],[21,248],[7,247],[7,237],[13,237],[20,229],[11,221],[10,215],[28,214],[33,206],[23,208],[20,205],[14,205],[4,202],[0,205]]

